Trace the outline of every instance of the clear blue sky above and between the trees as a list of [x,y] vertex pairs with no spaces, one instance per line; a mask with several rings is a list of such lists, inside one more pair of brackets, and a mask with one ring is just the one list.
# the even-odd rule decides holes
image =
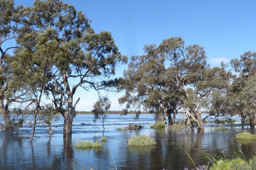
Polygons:
[[[151,1],[151,0],[63,0],[88,17],[96,32],[111,32],[119,51],[128,56],[142,55],[145,44],[159,44],[163,39],[181,37],[186,45],[203,46],[212,67],[229,62],[245,51],[256,51],[256,1]],[[32,6],[32,0],[15,4]],[[126,66],[117,68],[122,76]],[[109,94],[110,110],[120,110],[117,98]],[[79,90],[77,109],[89,111],[97,100],[93,90]]]

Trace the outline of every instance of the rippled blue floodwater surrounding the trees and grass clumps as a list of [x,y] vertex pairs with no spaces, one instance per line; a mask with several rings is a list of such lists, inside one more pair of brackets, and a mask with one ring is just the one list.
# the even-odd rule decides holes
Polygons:
[[[48,135],[47,129],[38,125],[36,140],[29,143],[28,139],[20,139],[16,134],[0,132],[0,169],[115,169],[118,170],[172,170],[194,168],[194,165],[206,164],[207,159],[202,151],[214,155],[235,158],[237,147],[241,148],[246,159],[255,156],[256,143],[254,141],[238,141],[234,137],[237,133],[248,131],[249,124],[224,124],[230,129],[215,131],[214,124],[205,124],[204,133],[168,132],[166,129],[147,128],[154,123],[153,115],[142,114],[139,120],[133,120],[134,115],[108,115],[104,134],[101,122],[93,123],[93,115],[77,115],[72,128],[72,143],[64,145],[63,119],[55,124],[54,135]],[[210,119],[210,118],[209,118]],[[0,118],[0,121],[2,119]],[[81,125],[85,123],[86,125]],[[129,123],[142,124],[143,129],[122,130],[116,128]],[[218,124],[217,126],[220,126]],[[19,135],[28,135],[31,127],[23,127]],[[149,135],[157,141],[154,147],[128,147],[130,137],[139,134]],[[102,135],[108,138],[100,149],[79,150],[74,144],[81,140],[100,141]],[[189,156],[178,145],[189,153]]]

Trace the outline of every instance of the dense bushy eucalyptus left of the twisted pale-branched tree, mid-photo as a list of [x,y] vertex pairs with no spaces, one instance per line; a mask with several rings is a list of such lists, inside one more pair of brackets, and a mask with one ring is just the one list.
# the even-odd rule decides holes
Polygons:
[[119,88],[126,93],[119,98],[119,103],[126,103],[124,113],[133,111],[138,118],[141,109],[149,110],[163,122],[168,116],[171,124],[181,108],[180,90],[167,79],[165,59],[159,53],[159,48],[146,45],[144,50],[146,54],[133,56],[129,69],[124,71],[123,83]]

